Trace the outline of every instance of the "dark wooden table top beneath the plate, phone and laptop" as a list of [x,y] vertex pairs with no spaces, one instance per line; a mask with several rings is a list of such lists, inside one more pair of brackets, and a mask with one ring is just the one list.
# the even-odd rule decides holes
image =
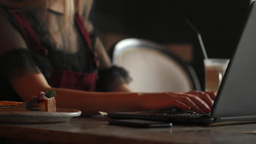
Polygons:
[[65,123],[0,124],[1,137],[47,143],[255,143],[256,124],[171,128],[109,125],[104,117],[76,117]]

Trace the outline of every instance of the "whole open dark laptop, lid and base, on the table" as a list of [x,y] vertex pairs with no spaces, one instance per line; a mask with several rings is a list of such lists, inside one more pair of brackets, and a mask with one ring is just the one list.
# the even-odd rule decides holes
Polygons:
[[250,9],[211,113],[142,111],[108,113],[108,117],[193,125],[256,122],[256,2]]

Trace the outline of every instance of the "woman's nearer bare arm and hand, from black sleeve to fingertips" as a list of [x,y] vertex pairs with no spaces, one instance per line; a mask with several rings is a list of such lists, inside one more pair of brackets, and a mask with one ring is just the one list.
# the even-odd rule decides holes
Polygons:
[[40,73],[27,71],[24,75],[10,80],[11,86],[20,97],[29,101],[39,92],[55,89],[56,105],[67,109],[78,109],[83,115],[95,115],[98,111],[156,110],[180,107],[196,112],[210,112],[210,107],[199,97],[184,93],[130,93],[130,92],[86,92],[48,85]]

